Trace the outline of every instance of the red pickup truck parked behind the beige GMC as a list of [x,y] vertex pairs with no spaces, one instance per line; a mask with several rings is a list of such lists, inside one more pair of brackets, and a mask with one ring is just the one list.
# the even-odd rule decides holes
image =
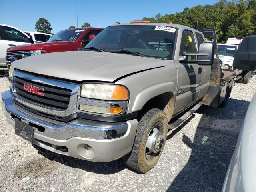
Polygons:
[[84,48],[103,28],[73,28],[61,30],[45,43],[13,46],[6,50],[6,65],[28,56],[51,52],[75,51]]

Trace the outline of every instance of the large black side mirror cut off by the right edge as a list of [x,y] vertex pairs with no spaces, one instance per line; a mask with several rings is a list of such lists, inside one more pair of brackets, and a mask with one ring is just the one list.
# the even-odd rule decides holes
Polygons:
[[233,67],[240,70],[256,70],[256,35],[246,36],[236,51]]

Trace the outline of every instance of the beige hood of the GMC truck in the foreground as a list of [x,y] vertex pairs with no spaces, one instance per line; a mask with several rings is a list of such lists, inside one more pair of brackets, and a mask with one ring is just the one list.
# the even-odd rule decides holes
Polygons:
[[114,82],[128,74],[166,66],[166,60],[95,51],[56,52],[12,63],[14,68],[75,81]]

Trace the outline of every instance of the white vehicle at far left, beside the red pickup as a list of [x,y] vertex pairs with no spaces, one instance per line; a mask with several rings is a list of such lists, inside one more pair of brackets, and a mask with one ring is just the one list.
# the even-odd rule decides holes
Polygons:
[[0,24],[0,66],[6,66],[8,47],[23,44],[30,44],[30,36],[14,26]]

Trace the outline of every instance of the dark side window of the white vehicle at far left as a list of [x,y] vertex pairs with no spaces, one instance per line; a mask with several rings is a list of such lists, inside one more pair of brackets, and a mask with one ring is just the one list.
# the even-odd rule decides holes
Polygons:
[[28,37],[14,28],[2,26],[2,32],[4,40],[29,43]]

